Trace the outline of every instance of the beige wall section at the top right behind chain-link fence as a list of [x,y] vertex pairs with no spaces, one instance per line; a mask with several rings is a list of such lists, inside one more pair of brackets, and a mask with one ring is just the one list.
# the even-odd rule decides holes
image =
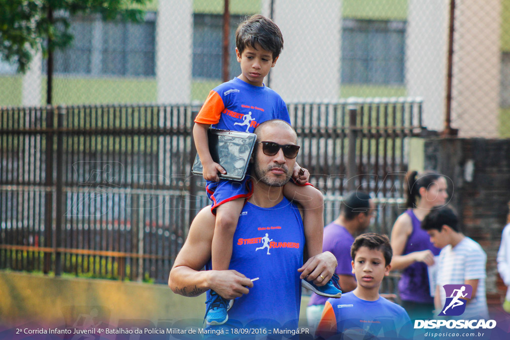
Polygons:
[[501,0],[457,2],[452,126],[463,137],[498,137]]

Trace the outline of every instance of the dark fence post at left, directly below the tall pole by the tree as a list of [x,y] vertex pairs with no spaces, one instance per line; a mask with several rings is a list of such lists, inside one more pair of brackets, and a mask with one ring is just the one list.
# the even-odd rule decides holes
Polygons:
[[[44,247],[53,246],[53,136],[54,136],[54,108],[46,106],[46,167],[44,169]],[[43,273],[48,274],[52,267],[52,254],[44,252]]]

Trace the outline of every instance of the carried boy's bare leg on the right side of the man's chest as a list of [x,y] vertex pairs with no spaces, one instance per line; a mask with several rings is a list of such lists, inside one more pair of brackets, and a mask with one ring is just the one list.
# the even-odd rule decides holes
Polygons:
[[293,182],[288,182],[284,187],[284,195],[303,207],[304,237],[308,257],[322,253],[322,234],[324,233],[324,197],[322,193],[312,186],[298,186]]

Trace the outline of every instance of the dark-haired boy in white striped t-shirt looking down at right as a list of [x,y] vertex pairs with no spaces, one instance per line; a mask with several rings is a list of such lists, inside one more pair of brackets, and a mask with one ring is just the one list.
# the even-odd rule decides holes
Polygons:
[[433,208],[421,227],[430,242],[442,248],[438,260],[438,278],[434,305],[440,312],[446,301],[445,284],[469,284],[473,288],[460,319],[487,319],[485,279],[487,254],[478,243],[465,236],[458,225],[458,217],[449,206]]

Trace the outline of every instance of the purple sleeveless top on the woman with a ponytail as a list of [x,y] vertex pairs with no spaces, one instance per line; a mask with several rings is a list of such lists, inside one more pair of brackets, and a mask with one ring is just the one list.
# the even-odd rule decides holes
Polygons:
[[[430,250],[434,256],[439,255],[441,249],[436,248],[430,243],[430,238],[425,230],[421,228],[421,222],[418,220],[413,210],[407,210],[404,214],[411,217],[413,231],[407,239],[403,255],[422,250]],[[415,262],[402,271],[400,281],[398,282],[400,298],[404,301],[419,303],[433,303],[430,296],[430,286],[428,284],[427,265],[423,262]]]

